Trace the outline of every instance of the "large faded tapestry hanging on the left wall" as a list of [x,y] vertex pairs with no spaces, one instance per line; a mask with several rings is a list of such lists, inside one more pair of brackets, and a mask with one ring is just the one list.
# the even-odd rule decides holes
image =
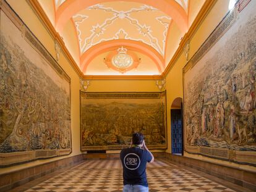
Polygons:
[[70,154],[70,78],[6,2],[0,43],[0,167]]

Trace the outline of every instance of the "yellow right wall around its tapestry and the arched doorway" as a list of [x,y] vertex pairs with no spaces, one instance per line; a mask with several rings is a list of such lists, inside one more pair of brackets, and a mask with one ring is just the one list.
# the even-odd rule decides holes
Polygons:
[[[208,38],[210,33],[216,28],[218,23],[221,22],[223,17],[228,13],[229,0],[218,0],[213,8],[210,10],[205,19],[200,23],[195,31],[190,42],[189,59],[195,54],[200,48],[202,43]],[[166,90],[167,90],[167,123],[168,123],[168,138],[171,138],[171,104],[176,98],[183,98],[182,88],[182,69],[186,65],[186,57],[184,52],[179,56],[174,66],[169,70],[166,75]],[[171,141],[168,140],[168,149],[166,152],[171,153]],[[201,155],[189,154],[184,152],[184,156],[191,157],[194,159],[200,159],[202,161],[215,162],[222,165],[228,165],[231,167],[239,167],[240,169],[256,170],[256,167],[249,165],[241,165],[228,161],[221,161]]]

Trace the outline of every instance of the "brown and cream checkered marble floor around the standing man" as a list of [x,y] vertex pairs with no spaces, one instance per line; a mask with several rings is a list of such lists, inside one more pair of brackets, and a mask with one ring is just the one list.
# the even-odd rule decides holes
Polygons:
[[[147,176],[150,192],[234,191],[165,159],[148,164]],[[87,160],[26,191],[122,191],[122,165],[118,159]]]

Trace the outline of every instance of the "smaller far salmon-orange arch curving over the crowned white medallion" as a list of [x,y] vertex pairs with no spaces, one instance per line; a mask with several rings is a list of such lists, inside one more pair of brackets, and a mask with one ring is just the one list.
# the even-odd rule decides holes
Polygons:
[[150,57],[150,59],[155,63],[156,67],[158,68],[158,73],[161,74],[163,72],[165,68],[163,57],[151,46],[148,46],[148,44],[134,40],[111,40],[92,46],[92,48],[88,49],[82,54],[80,59],[80,69],[84,74],[86,74],[88,65],[90,65],[90,62],[96,56],[103,52],[117,50],[117,48],[120,48],[121,46],[124,46],[131,51],[140,52]]

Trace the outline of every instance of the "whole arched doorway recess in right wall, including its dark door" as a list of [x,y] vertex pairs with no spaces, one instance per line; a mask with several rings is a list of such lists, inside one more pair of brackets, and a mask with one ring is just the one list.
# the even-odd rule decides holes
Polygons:
[[171,153],[183,155],[182,98],[171,104]]

